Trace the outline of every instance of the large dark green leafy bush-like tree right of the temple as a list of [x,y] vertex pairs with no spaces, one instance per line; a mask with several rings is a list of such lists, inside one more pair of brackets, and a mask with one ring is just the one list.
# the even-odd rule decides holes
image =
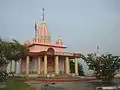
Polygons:
[[105,83],[110,83],[120,69],[120,57],[112,54],[97,56],[96,54],[88,54],[86,57],[81,55],[85,60],[89,69],[94,70],[95,76]]

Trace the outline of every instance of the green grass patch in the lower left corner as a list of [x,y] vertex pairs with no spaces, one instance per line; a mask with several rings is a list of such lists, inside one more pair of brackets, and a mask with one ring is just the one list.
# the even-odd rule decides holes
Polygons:
[[24,82],[15,81],[16,78],[17,77],[10,77],[8,79],[6,88],[0,88],[0,90],[35,90],[33,88],[30,88]]

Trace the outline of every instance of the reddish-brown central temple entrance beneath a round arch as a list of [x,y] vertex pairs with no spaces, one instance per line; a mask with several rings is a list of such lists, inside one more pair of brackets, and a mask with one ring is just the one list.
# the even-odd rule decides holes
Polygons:
[[47,71],[48,73],[54,72],[54,49],[48,48],[47,50],[48,60],[47,60]]

